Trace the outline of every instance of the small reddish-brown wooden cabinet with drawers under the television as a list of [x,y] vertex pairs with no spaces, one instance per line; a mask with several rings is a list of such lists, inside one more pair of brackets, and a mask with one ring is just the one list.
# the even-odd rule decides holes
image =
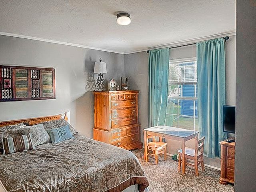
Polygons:
[[221,184],[234,184],[235,179],[235,142],[220,142],[221,146]]

